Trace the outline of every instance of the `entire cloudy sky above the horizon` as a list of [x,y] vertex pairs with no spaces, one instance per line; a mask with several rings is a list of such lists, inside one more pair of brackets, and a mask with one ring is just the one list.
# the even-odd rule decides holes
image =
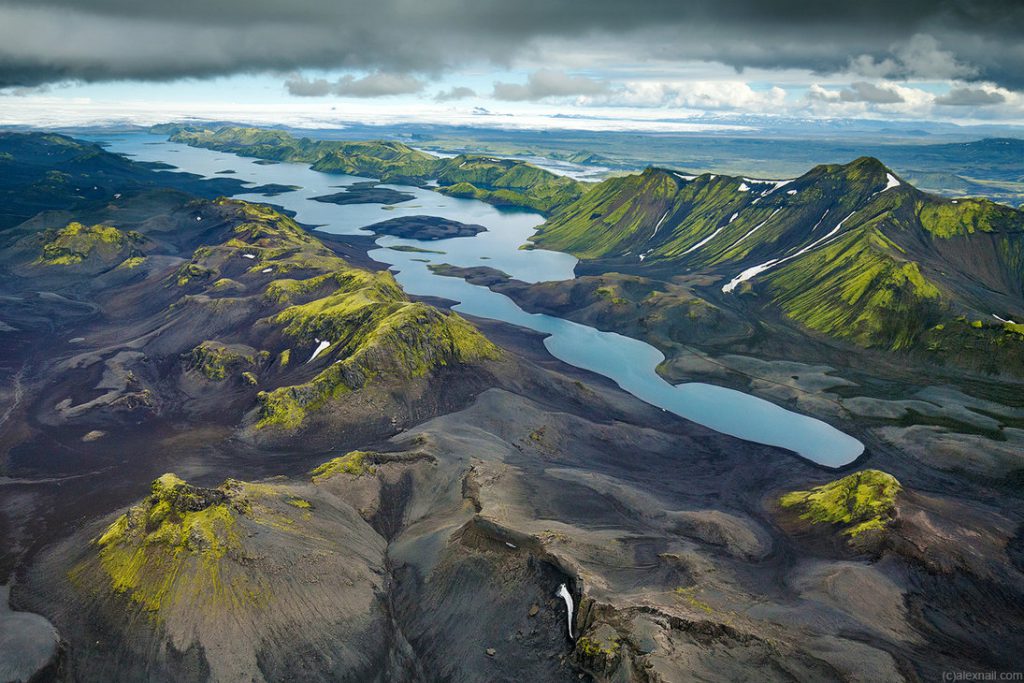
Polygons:
[[0,124],[1024,124],[1022,36],[1021,0],[0,0]]

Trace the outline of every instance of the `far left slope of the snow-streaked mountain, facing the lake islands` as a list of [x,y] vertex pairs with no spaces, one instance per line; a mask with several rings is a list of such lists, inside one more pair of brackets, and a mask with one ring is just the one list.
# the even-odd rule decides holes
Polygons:
[[[809,243],[879,197],[873,159],[819,166],[791,181],[649,168],[599,183],[545,223],[535,242],[585,259],[713,265]],[[827,214],[826,214],[827,212]],[[819,225],[822,223],[822,225]],[[772,249],[774,248],[774,249]]]

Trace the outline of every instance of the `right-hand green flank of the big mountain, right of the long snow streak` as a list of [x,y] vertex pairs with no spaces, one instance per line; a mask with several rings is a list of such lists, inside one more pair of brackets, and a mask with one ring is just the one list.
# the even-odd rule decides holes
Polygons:
[[937,325],[965,314],[994,323],[995,311],[1024,310],[1022,255],[1021,212],[907,187],[869,202],[835,238],[751,284],[812,330],[929,352],[925,336]]

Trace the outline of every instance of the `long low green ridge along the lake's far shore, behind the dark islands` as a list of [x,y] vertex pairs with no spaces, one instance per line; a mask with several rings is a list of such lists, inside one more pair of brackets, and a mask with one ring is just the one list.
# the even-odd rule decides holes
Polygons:
[[247,157],[309,164],[326,173],[364,175],[390,182],[423,184],[498,206],[552,213],[579,199],[584,185],[525,162],[476,155],[441,159],[402,142],[313,140],[280,130],[224,127],[177,129],[171,139]]

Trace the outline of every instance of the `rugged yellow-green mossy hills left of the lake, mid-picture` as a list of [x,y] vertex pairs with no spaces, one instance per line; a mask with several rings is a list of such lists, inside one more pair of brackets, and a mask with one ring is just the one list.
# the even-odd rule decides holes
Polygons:
[[410,301],[391,273],[352,267],[291,218],[239,201],[215,207],[227,239],[197,249],[168,285],[184,306],[251,319],[251,335],[207,339],[183,362],[207,381],[258,385],[258,427],[295,429],[370,383],[499,357],[462,317]]

